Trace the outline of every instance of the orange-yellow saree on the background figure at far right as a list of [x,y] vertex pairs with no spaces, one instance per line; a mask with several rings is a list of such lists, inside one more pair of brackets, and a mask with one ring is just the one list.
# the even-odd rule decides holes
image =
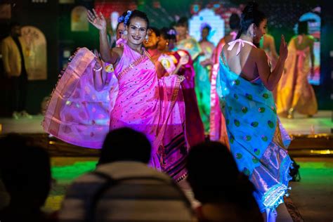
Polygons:
[[314,115],[318,111],[315,91],[308,83],[310,48],[299,50],[296,41],[297,37],[294,37],[289,42],[285,72],[278,84],[276,105],[281,117],[287,117],[291,108],[303,115]]

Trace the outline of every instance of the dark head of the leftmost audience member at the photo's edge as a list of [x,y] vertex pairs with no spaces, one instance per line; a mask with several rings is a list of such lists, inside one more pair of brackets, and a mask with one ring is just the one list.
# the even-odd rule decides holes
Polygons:
[[51,164],[48,152],[31,142],[14,133],[1,138],[0,173],[13,199],[30,199],[29,207],[37,209],[51,188]]

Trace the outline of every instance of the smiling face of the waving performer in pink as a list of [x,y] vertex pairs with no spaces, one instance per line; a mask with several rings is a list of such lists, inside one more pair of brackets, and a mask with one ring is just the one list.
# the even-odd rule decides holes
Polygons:
[[127,41],[134,45],[140,45],[145,40],[147,34],[147,22],[142,18],[132,18],[126,26]]

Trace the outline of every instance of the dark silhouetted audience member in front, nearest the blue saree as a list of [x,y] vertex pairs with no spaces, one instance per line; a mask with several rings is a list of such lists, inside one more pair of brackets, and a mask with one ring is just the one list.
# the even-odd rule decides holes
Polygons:
[[195,198],[198,221],[263,221],[254,185],[240,173],[228,148],[218,142],[200,143],[188,155],[188,182]]

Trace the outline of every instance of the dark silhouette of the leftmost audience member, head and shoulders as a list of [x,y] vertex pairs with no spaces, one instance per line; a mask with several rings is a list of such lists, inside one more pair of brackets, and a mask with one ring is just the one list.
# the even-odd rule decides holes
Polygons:
[[1,138],[0,147],[1,181],[10,196],[0,221],[52,221],[41,211],[51,188],[48,152],[17,134]]

